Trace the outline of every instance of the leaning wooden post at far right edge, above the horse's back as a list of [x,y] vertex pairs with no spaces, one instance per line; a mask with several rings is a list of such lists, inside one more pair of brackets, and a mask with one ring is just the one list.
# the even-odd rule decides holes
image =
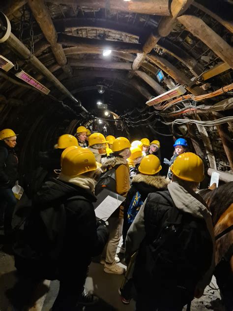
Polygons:
[[[214,119],[218,119],[219,113],[213,112]],[[233,142],[227,124],[216,125],[223,148],[233,171]]]

